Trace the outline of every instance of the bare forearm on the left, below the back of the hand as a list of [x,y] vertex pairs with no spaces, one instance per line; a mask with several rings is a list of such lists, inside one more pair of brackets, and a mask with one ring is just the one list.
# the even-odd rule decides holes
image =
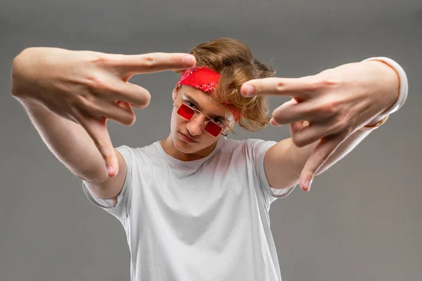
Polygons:
[[49,150],[72,174],[91,182],[108,178],[103,158],[82,126],[42,105],[20,102]]

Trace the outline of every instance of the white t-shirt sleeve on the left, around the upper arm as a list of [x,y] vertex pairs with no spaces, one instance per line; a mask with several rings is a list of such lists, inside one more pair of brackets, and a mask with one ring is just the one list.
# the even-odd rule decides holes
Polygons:
[[126,178],[124,180],[122,190],[117,195],[117,202],[114,203],[111,199],[101,199],[91,194],[89,188],[87,187],[86,181],[82,181],[82,189],[92,204],[108,211],[108,213],[112,214],[119,220],[123,220],[129,217],[130,202],[132,197],[132,169],[134,166],[134,157],[132,155],[131,148],[127,147],[126,145],[122,145],[119,148],[116,148],[116,150],[122,154],[127,165]]

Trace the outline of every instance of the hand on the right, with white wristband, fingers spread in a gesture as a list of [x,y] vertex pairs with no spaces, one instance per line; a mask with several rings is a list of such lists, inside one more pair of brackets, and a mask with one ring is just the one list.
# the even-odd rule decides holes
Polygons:
[[352,133],[395,103],[399,93],[396,72],[378,61],[349,63],[319,74],[290,78],[253,79],[241,88],[243,96],[289,96],[274,110],[270,124],[290,124],[299,148],[319,141],[300,174],[309,190],[314,174]]

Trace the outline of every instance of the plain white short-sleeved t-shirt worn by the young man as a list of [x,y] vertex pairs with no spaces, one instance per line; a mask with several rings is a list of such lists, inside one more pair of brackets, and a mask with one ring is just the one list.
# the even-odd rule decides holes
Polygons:
[[117,148],[127,162],[117,203],[82,187],[124,226],[132,281],[280,281],[269,207],[294,187],[267,181],[264,154],[274,144],[220,138],[210,155],[190,162],[158,141]]

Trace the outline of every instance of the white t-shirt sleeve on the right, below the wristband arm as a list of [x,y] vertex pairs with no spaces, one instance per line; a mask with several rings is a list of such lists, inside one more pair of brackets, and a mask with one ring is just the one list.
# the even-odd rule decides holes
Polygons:
[[267,195],[270,204],[278,198],[283,198],[289,195],[296,186],[293,185],[290,188],[277,189],[271,188],[271,185],[269,185],[264,169],[264,156],[267,150],[275,144],[275,141],[262,141],[259,139],[248,140],[249,151],[252,154],[253,164],[258,180],[260,181],[262,192],[264,192],[264,195]]

